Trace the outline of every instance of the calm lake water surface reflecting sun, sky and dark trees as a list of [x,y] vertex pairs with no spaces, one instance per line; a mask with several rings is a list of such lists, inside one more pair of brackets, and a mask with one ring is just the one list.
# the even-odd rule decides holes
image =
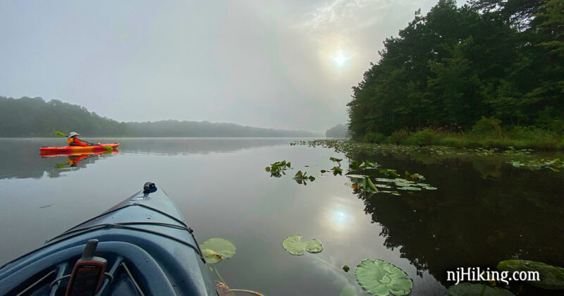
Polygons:
[[[0,264],[40,247],[152,181],[178,205],[200,243],[226,238],[235,256],[214,264],[231,288],[264,295],[339,295],[362,259],[382,259],[414,280],[412,295],[438,295],[457,267],[495,269],[504,259],[564,266],[564,173],[529,171],[501,157],[436,160],[355,155],[419,173],[434,191],[364,195],[348,178],[319,171],[341,153],[291,139],[86,139],[121,142],[116,154],[42,158],[64,139],[0,139]],[[291,161],[282,178],[264,171]],[[305,167],[305,166],[309,167]],[[348,167],[343,161],[343,168]],[[299,185],[296,171],[317,180]],[[383,178],[376,171],[374,178]],[[293,256],[289,235],[317,238],[319,254]],[[347,264],[351,271],[341,271]]]

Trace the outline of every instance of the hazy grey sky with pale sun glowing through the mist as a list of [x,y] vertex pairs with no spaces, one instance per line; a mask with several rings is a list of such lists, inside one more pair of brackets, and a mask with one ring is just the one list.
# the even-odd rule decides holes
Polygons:
[[0,1],[0,96],[324,131],[384,38],[437,1]]

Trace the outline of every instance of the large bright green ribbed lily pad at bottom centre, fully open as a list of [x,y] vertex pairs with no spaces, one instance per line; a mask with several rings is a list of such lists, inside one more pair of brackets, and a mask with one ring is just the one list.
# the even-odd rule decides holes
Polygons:
[[357,265],[355,276],[362,288],[372,295],[407,295],[413,288],[407,273],[380,259],[364,259]]

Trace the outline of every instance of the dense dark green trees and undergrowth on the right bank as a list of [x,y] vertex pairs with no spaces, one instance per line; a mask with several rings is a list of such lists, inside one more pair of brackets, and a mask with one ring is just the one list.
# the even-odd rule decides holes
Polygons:
[[441,0],[417,12],[353,87],[353,139],[563,148],[563,28],[556,0]]

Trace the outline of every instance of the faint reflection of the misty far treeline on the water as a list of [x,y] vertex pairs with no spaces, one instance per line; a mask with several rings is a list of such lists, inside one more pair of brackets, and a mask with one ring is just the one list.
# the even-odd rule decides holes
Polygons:
[[[99,138],[91,142],[120,142],[121,154],[210,154],[286,144],[285,138]],[[85,168],[113,154],[39,154],[39,147],[64,145],[60,138],[0,139],[0,180],[5,178],[58,178],[64,171]],[[47,157],[47,158],[46,158]],[[63,158],[63,159],[61,159]]]

